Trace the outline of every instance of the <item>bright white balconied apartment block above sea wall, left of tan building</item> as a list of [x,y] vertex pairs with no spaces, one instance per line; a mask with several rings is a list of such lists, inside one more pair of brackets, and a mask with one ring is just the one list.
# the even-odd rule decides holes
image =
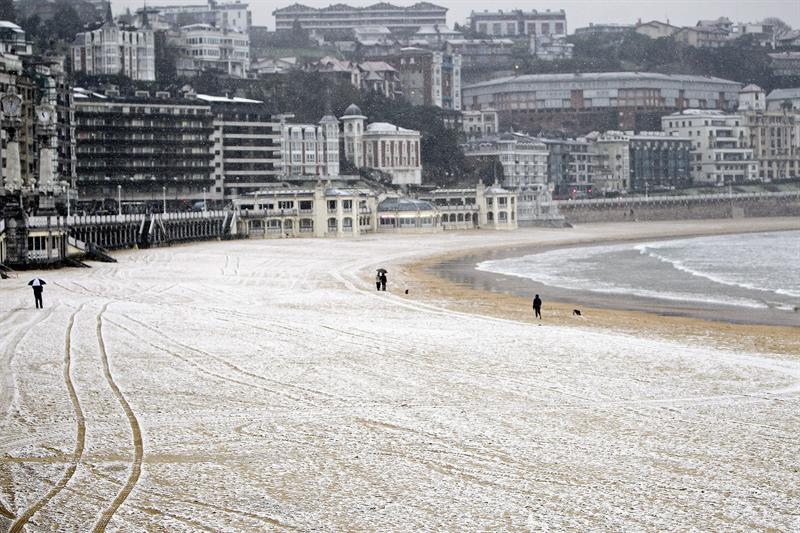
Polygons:
[[758,162],[749,148],[742,115],[687,109],[662,117],[661,129],[692,142],[690,170],[698,184],[728,185],[758,179]]

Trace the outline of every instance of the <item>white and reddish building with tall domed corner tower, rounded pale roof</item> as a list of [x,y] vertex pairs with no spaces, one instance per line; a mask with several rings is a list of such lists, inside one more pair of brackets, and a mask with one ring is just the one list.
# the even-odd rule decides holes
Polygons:
[[366,120],[355,104],[342,115],[345,157],[356,167],[386,172],[395,185],[421,184],[420,133],[388,122],[365,126]]

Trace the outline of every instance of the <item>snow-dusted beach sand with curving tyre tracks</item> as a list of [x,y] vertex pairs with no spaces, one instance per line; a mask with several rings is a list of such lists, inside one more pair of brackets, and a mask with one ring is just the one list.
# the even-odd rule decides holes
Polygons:
[[36,273],[44,310],[31,273],[0,282],[0,529],[800,529],[800,358],[455,311],[396,274],[725,224],[124,252]]

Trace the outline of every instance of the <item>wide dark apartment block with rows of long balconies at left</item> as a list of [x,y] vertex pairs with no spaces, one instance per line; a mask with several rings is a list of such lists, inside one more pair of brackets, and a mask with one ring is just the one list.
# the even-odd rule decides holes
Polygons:
[[214,117],[207,103],[146,91],[74,97],[81,199],[178,207],[202,199],[214,185]]

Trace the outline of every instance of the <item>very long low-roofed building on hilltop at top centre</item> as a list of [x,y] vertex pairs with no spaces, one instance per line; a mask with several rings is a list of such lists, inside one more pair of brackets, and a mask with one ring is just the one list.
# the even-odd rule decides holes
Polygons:
[[352,32],[364,26],[385,26],[395,33],[411,34],[422,26],[447,24],[447,8],[430,2],[417,2],[408,7],[386,2],[367,7],[333,4],[319,9],[293,4],[276,9],[272,15],[277,31],[291,31],[297,22],[304,30],[319,32]]

